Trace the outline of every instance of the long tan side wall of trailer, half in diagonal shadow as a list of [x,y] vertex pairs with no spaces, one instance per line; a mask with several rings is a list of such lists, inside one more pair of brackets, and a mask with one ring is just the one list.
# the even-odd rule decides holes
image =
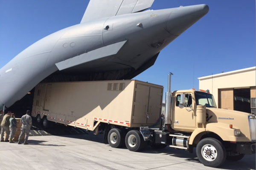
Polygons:
[[[111,84],[111,85],[110,85]],[[93,130],[93,122],[130,126],[134,81],[91,81],[41,84],[46,88],[44,107],[50,121]],[[97,119],[95,119],[97,118]]]

